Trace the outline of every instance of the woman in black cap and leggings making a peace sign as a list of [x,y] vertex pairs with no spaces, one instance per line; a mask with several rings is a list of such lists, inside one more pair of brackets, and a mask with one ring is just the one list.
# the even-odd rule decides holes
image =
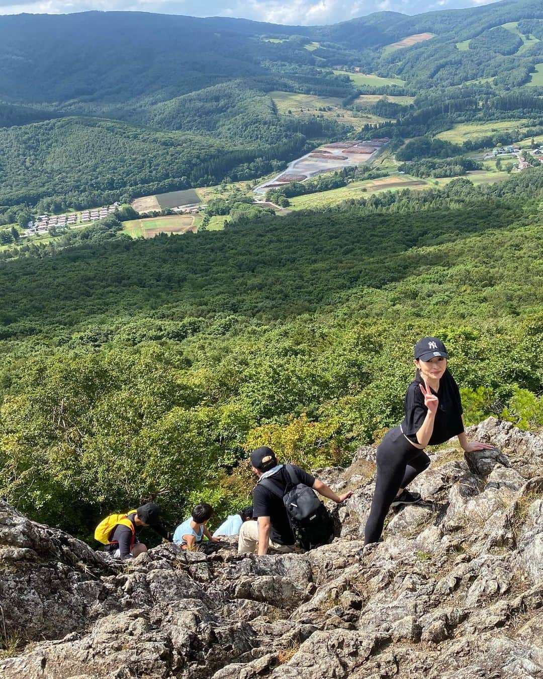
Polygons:
[[436,337],[424,337],[415,345],[417,372],[405,394],[405,418],[390,429],[377,448],[377,480],[366,523],[364,545],[379,542],[390,507],[420,502],[418,493],[407,486],[430,464],[427,445],[445,443],[458,437],[465,451],[483,450],[491,445],[468,441],[460,392],[447,370],[449,354]]

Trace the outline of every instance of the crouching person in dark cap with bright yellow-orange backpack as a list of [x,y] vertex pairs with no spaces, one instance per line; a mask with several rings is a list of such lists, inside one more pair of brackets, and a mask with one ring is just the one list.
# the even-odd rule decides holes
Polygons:
[[147,545],[138,540],[138,533],[149,526],[171,542],[168,531],[160,523],[160,507],[147,502],[126,514],[110,514],[100,521],[94,531],[94,539],[105,545],[104,551],[113,557],[131,559],[147,551]]

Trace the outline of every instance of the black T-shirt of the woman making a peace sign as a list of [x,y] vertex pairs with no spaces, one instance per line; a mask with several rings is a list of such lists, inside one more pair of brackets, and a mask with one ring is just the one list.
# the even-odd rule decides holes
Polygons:
[[[418,443],[417,431],[421,428],[428,412],[420,390],[421,384],[424,385],[424,380],[417,371],[417,376],[407,388],[404,401],[405,418],[402,422],[402,432],[413,443]],[[433,389],[431,391],[434,396],[438,397],[439,403],[434,419],[434,430],[428,445],[439,445],[464,431],[462,402],[460,391],[449,369],[445,370],[443,377],[439,380],[438,391],[435,392]]]

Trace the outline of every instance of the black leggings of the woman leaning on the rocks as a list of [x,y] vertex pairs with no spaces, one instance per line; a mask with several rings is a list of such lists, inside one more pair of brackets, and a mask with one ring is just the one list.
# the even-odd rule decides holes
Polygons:
[[385,517],[398,490],[406,488],[430,464],[430,458],[424,450],[411,445],[399,426],[386,433],[375,457],[377,480],[364,531],[364,545],[379,540]]

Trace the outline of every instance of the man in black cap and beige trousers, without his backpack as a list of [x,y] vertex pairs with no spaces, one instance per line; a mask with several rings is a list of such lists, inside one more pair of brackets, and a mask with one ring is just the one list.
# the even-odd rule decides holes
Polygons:
[[[282,553],[294,551],[295,537],[282,500],[287,486],[293,482],[288,471],[284,464],[278,464],[276,454],[266,446],[252,451],[250,464],[252,471],[259,477],[252,491],[253,517],[258,520],[245,521],[240,528],[238,554],[254,553],[257,548],[259,556],[265,555],[270,548]],[[352,496],[352,491],[343,495],[335,494],[326,483],[318,481],[298,466],[292,465],[291,469],[295,472],[297,483],[305,483],[337,504]],[[262,485],[263,479],[269,479],[278,492],[274,493]]]

